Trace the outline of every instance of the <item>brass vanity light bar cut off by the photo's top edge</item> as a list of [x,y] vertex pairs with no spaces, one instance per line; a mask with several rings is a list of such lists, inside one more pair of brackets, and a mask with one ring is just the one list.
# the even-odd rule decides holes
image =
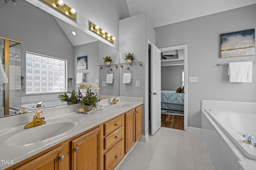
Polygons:
[[63,1],[61,1],[61,3],[60,2],[58,3],[58,1],[60,0],[42,0],[42,1],[50,5],[54,9],[58,10],[62,14],[68,16],[72,20],[76,20],[76,10],[64,4]]

